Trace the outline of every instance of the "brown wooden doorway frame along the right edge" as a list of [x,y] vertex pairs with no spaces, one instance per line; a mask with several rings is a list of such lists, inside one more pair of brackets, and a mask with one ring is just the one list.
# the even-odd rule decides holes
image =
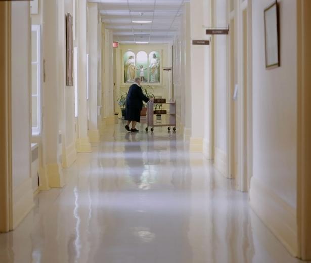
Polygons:
[[297,223],[298,223],[298,257],[311,260],[311,56],[307,47],[311,44],[311,2],[297,1]]

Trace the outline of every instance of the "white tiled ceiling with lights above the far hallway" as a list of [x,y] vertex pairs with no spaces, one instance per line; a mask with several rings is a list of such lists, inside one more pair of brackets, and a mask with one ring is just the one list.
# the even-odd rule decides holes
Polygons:
[[[180,25],[182,6],[190,0],[89,0],[99,3],[102,22],[120,43],[168,43]],[[149,24],[132,21],[150,20]]]

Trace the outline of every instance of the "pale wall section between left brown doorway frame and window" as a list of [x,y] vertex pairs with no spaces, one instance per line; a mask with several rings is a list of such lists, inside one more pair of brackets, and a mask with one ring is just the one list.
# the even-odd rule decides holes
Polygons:
[[29,2],[13,2],[11,19],[13,227],[16,227],[34,205],[30,170]]

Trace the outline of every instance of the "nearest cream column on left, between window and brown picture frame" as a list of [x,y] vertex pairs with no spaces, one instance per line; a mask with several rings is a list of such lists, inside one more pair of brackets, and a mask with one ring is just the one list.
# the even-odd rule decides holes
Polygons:
[[43,145],[45,169],[50,187],[63,187],[59,158],[59,89],[58,85],[58,1],[43,5]]

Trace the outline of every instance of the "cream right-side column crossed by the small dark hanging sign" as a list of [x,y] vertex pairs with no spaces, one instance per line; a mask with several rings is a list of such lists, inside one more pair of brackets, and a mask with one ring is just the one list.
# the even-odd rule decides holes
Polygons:
[[[190,2],[191,39],[209,39],[203,26],[210,25],[210,1],[194,0]],[[203,152],[210,148],[210,47],[191,46],[191,138],[190,150]],[[207,153],[208,155],[208,153]]]

